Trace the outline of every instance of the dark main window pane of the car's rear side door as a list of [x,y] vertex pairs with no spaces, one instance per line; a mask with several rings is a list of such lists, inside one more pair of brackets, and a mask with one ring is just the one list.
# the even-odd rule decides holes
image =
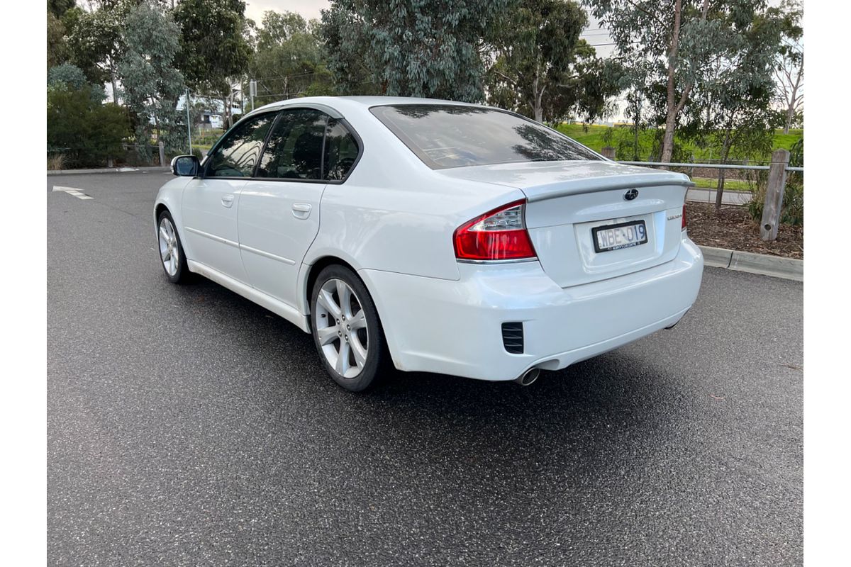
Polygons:
[[306,109],[283,111],[260,157],[257,177],[322,179],[322,145],[328,116]]

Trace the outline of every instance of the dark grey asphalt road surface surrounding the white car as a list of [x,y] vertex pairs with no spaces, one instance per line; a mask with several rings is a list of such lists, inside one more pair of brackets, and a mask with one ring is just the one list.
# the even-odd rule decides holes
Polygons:
[[311,338],[168,283],[162,172],[49,177],[56,565],[802,564],[802,285],[694,309],[532,387],[336,387]]

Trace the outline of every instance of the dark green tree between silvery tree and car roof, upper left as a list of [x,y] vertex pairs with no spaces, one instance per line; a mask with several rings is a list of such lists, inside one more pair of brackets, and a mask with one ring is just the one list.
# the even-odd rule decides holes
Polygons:
[[172,10],[180,26],[177,68],[197,93],[221,99],[232,121],[235,88],[248,71],[251,48],[243,0],[183,0]]

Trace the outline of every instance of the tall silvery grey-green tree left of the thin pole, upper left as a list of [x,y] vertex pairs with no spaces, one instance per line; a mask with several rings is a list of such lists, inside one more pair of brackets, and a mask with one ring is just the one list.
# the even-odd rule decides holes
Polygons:
[[128,107],[139,118],[136,143],[140,156],[150,158],[151,122],[157,140],[169,150],[182,147],[186,124],[176,111],[185,83],[174,68],[180,49],[180,31],[167,14],[147,3],[140,3],[127,15],[122,31],[124,54],[117,63],[117,74],[124,88]]

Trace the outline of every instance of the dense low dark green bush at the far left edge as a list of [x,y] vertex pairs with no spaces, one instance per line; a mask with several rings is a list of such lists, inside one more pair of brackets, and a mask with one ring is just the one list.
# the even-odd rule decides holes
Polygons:
[[48,153],[65,156],[71,167],[100,166],[123,151],[129,136],[126,109],[100,105],[88,85],[68,88],[65,83],[48,89]]

